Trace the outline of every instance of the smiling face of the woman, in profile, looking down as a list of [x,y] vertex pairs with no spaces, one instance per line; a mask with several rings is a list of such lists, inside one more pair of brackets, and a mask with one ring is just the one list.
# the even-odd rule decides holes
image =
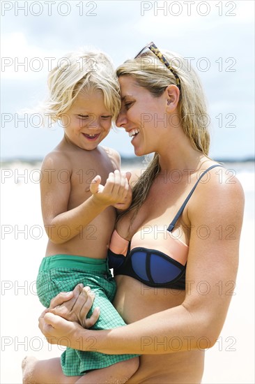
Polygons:
[[119,77],[121,85],[121,112],[116,126],[125,128],[132,137],[134,153],[143,156],[157,152],[161,142],[160,131],[167,128],[164,94],[153,96],[150,91],[140,87],[131,76]]

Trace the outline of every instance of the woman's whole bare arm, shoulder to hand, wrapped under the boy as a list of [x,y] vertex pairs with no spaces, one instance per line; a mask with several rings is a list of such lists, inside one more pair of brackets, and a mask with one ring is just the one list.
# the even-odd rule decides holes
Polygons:
[[[47,313],[40,319],[45,336],[68,336],[71,347],[101,353],[171,353],[212,347],[222,330],[235,288],[244,196],[237,179],[199,186],[187,211],[190,251],[183,304],[155,313],[125,327],[107,331],[84,330]],[[92,343],[92,345],[91,345]]]

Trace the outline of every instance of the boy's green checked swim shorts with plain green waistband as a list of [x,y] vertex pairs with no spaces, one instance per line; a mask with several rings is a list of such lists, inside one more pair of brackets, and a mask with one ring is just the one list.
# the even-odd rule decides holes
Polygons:
[[[40,302],[49,307],[50,301],[60,292],[69,292],[77,284],[89,286],[95,293],[93,307],[100,307],[100,318],[91,327],[93,330],[109,330],[125,325],[123,318],[111,304],[116,293],[116,283],[109,271],[107,260],[86,258],[83,256],[55,255],[43,258],[36,281]],[[91,338],[92,339],[92,338]],[[93,340],[91,340],[93,348]],[[91,369],[109,367],[112,364],[132,359],[137,355],[105,355],[66,348],[61,355],[61,366],[65,376],[79,376]]]

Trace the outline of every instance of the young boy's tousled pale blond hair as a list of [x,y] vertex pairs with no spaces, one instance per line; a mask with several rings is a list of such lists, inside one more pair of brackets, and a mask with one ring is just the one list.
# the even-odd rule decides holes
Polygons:
[[100,90],[115,120],[121,100],[116,72],[107,54],[82,48],[66,54],[59,62],[48,76],[49,96],[42,105],[43,115],[56,122],[69,110],[79,91]]

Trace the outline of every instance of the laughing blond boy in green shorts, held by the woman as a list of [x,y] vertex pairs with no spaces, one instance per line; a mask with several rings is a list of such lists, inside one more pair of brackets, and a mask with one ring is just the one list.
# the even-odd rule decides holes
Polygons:
[[[42,163],[42,217],[49,237],[40,265],[40,302],[83,283],[95,294],[100,318],[93,329],[125,325],[111,301],[116,285],[107,247],[116,208],[127,209],[131,191],[120,156],[98,147],[120,108],[118,80],[109,58],[77,52],[49,74],[45,113],[61,120],[63,140]],[[99,176],[100,175],[100,176]],[[95,345],[96,348],[96,345]],[[125,383],[138,368],[134,355],[105,355],[67,348],[61,360],[26,359],[23,383]]]

